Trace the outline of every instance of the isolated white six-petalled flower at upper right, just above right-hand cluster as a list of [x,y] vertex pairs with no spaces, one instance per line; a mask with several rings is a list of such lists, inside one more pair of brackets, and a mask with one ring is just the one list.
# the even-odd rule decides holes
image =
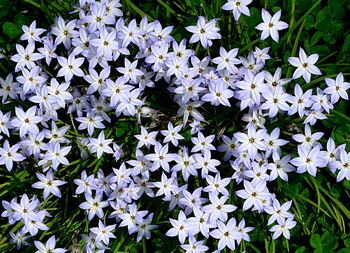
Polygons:
[[315,66],[315,63],[318,60],[318,54],[312,54],[307,56],[304,49],[299,49],[299,58],[298,57],[289,57],[288,62],[297,67],[293,73],[293,79],[297,79],[303,76],[306,83],[310,82],[311,74],[321,75],[319,68]]

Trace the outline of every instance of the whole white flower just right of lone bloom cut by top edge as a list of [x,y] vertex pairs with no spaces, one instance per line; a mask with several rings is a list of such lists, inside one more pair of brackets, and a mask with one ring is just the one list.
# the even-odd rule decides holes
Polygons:
[[278,42],[278,31],[288,28],[288,24],[286,22],[280,21],[281,10],[277,11],[273,16],[271,16],[267,10],[262,9],[261,16],[264,22],[255,27],[256,29],[262,31],[260,39],[265,40],[267,37],[271,36],[274,41]]

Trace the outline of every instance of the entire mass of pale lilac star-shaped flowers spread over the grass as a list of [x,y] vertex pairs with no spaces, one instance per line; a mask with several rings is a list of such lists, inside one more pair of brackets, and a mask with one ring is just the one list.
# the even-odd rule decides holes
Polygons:
[[[250,15],[251,2],[229,0],[222,8],[232,10],[237,21],[241,14]],[[146,17],[137,23],[124,18],[120,7],[118,0],[81,0],[77,19],[58,17],[48,31],[36,28],[35,21],[24,26],[21,40],[26,45],[16,45],[17,54],[11,57],[15,74],[0,79],[2,103],[23,102],[15,104],[14,111],[0,111],[0,164],[11,171],[34,159],[39,182],[32,187],[43,189],[44,200],[50,194],[61,197],[59,187],[66,182],[55,180],[55,175],[69,167],[77,150],[83,160],[96,156],[112,162],[97,175],[84,168],[74,179],[76,195],[84,198],[80,209],[89,221],[98,220],[98,226],[82,235],[87,252],[108,249],[117,227],[137,233],[137,241],[149,239],[158,226],[151,224],[153,212],[141,210],[142,199],[161,199],[169,203],[169,211],[178,210],[166,235],[177,237],[186,252],[208,251],[209,239],[218,252],[249,241],[253,227],[246,222],[254,221],[238,220],[237,208],[266,213],[272,238],[289,239],[289,230],[296,226],[289,212],[292,201],[280,203],[269,189],[271,182],[288,181],[292,172],[316,176],[325,167],[337,181],[350,180],[345,145],[336,147],[329,138],[323,147],[323,133],[312,129],[340,98],[348,99],[350,84],[339,73],[335,80],[326,78],[327,88],[304,91],[300,77],[310,83],[312,75],[321,75],[317,54],[307,56],[300,48],[299,57],[290,57],[288,62],[296,67],[291,78],[285,78],[281,68],[265,69],[269,48],[256,47],[245,57],[239,48],[220,47],[218,55],[200,58],[186,39],[177,42],[170,35],[172,26]],[[278,32],[288,27],[280,18],[281,11],[272,16],[262,10],[263,23],[256,27],[262,40],[271,36],[279,41]],[[186,27],[192,33],[189,44],[212,47],[221,38],[217,22],[198,17],[196,25]],[[145,118],[159,116],[145,91],[152,92],[161,82],[168,85],[177,115],[156,130],[145,123]],[[205,115],[208,106],[238,107],[244,112],[243,124],[230,136],[215,136]],[[301,119],[304,131],[283,139],[283,130],[269,125],[281,114]],[[123,143],[118,145],[110,131],[122,117],[136,118],[140,125],[135,159],[122,157]],[[14,133],[16,143],[10,139]],[[285,149],[293,141],[297,156]],[[2,204],[2,216],[10,224],[24,224],[16,235],[11,232],[18,248],[26,243],[27,233],[34,236],[49,229],[44,224],[49,214],[37,197],[29,200],[23,194],[20,203],[14,198]],[[108,208],[112,225],[104,219]],[[38,252],[52,251],[55,237],[35,245]]]

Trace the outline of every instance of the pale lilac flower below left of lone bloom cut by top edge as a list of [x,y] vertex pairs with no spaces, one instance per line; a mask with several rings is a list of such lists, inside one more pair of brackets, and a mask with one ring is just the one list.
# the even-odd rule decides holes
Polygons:
[[213,44],[211,40],[221,39],[220,29],[216,27],[216,19],[206,23],[205,18],[200,16],[198,17],[196,26],[187,26],[185,28],[187,31],[193,33],[190,43],[193,44],[200,41],[204,48],[211,47]]

